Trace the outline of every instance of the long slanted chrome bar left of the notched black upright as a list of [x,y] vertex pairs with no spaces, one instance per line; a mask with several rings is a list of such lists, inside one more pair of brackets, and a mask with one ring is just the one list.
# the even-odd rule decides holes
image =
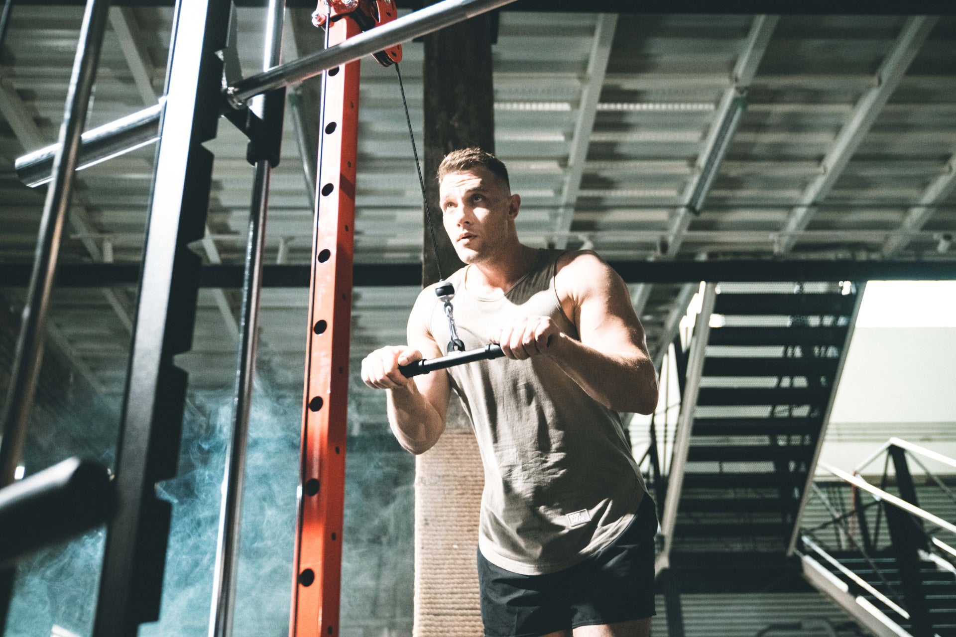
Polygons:
[[47,190],[43,216],[40,218],[33,275],[27,289],[10,390],[4,408],[3,439],[0,440],[0,487],[13,481],[30,421],[33,394],[43,358],[43,335],[46,333],[50,292],[54,287],[56,259],[63,223],[70,208],[79,138],[86,123],[90,94],[97,74],[109,4],[109,0],[88,0],[83,13],[73,74],[70,76],[63,110],[63,124],[59,131],[59,144],[53,161],[54,178]]

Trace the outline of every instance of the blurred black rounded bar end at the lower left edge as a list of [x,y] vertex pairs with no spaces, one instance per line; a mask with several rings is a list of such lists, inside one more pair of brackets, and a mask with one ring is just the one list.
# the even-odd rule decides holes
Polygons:
[[102,524],[113,505],[109,471],[78,457],[0,489],[0,566]]

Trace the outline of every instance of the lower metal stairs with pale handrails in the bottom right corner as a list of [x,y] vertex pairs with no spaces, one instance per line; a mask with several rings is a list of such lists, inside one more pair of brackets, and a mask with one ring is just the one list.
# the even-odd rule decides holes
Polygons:
[[[877,487],[858,473],[883,453]],[[923,469],[918,484],[910,454],[956,469],[956,460],[899,438],[852,474],[820,463],[834,478],[815,483],[797,551],[806,579],[874,634],[956,637],[956,524],[940,515],[956,512],[953,480],[947,485],[914,457]],[[934,501],[945,510],[921,508],[927,491],[942,494]]]

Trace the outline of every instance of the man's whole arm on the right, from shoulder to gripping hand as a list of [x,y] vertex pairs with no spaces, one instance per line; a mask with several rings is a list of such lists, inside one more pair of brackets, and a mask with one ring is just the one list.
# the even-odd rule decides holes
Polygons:
[[543,316],[507,326],[492,340],[510,358],[550,356],[608,409],[651,414],[658,403],[657,373],[619,274],[593,252],[568,253],[558,262],[554,285],[580,340]]

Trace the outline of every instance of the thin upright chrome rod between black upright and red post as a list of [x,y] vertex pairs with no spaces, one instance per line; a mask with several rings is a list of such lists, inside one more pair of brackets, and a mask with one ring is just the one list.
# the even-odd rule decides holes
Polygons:
[[[281,61],[285,10],[285,0],[269,1],[269,7],[266,10],[264,69],[269,69]],[[267,104],[267,100],[272,100],[272,104]],[[265,122],[263,130],[270,130],[281,138],[281,118],[285,96],[264,96],[256,101],[257,103],[254,103],[252,107],[253,110],[258,111]],[[276,118],[278,121],[273,121]],[[223,500],[213,571],[209,637],[230,637],[232,634],[236,579],[239,573],[242,498],[249,447],[249,414],[255,377],[256,350],[259,345],[259,305],[262,295],[262,265],[266,245],[266,215],[269,210],[271,178],[272,166],[269,160],[258,159],[252,181],[246,270],[243,280],[242,327],[232,397],[232,439],[229,441],[228,462],[226,474],[223,477]]]

